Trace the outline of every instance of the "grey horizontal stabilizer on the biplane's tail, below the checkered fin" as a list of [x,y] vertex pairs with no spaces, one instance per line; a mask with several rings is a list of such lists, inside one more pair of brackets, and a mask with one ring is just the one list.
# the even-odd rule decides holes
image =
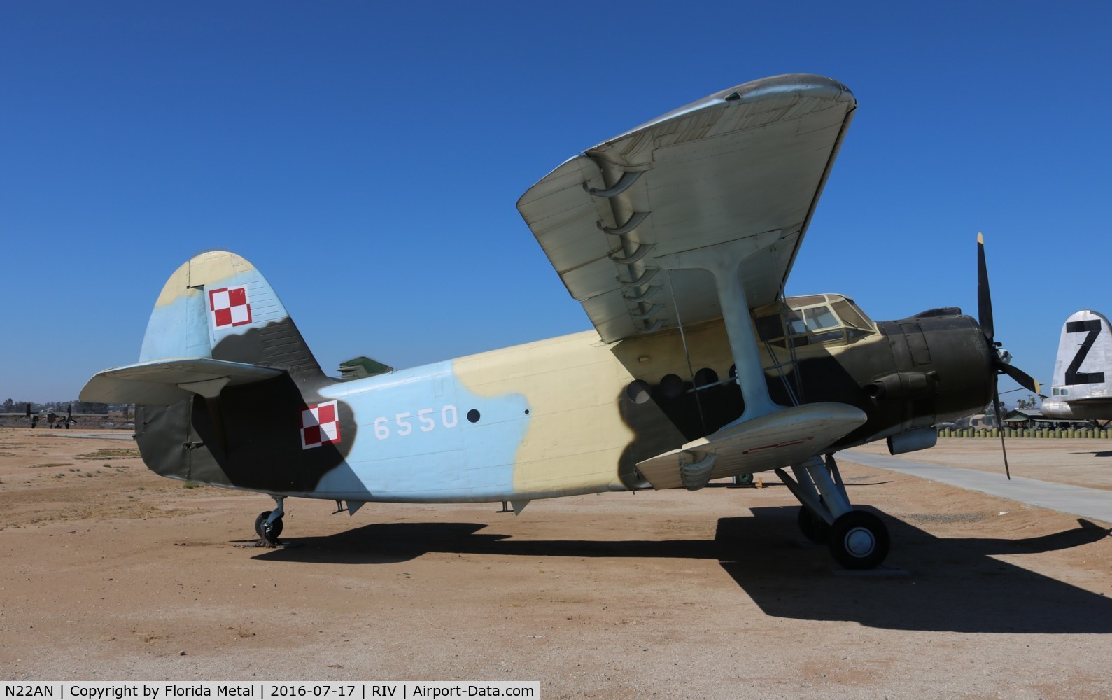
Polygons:
[[167,406],[195,394],[215,398],[225,386],[261,382],[284,369],[209,357],[175,357],[113,367],[97,373],[81,401]]

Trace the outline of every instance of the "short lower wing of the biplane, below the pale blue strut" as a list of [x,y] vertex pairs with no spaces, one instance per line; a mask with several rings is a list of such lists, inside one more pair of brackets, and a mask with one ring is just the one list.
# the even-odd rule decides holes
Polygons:
[[846,404],[783,408],[637,463],[654,489],[702,489],[712,479],[798,464],[863,425],[865,412]]

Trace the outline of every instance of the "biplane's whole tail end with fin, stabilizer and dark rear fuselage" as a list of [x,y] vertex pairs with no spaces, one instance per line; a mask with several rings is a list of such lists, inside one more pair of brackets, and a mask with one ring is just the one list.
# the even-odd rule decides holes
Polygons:
[[[329,405],[319,391],[335,381],[262,275],[214,252],[162,287],[139,362],[98,373],[81,397],[135,403],[136,443],[159,474],[299,493],[344,462],[358,432],[342,402],[330,402],[330,422],[314,411]],[[320,438],[326,423],[330,440]],[[317,442],[307,444],[314,428]]]

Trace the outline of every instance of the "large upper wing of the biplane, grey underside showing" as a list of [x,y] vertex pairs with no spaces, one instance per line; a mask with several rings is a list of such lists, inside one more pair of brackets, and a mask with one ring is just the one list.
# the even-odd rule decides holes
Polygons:
[[572,158],[517,203],[606,342],[722,316],[713,282],[653,259],[755,237],[751,307],[775,300],[857,106],[820,76],[729,88]]

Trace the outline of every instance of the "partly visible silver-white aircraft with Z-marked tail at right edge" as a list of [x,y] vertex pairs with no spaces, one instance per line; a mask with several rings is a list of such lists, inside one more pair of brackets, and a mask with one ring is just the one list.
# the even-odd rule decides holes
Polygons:
[[1103,314],[1065,319],[1050,393],[1041,408],[1048,418],[1112,421],[1112,328]]

